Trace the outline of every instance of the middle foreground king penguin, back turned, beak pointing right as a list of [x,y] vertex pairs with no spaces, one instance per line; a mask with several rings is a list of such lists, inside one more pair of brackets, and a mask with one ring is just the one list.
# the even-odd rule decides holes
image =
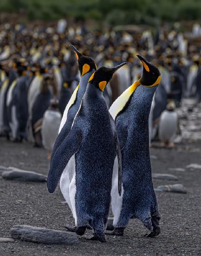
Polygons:
[[[105,242],[104,229],[110,209],[116,155],[119,194],[122,186],[121,152],[103,91],[115,71],[124,64],[101,67],[91,75],[71,132],[53,156],[47,178],[48,191],[53,193],[61,177],[60,188],[76,224],[76,227],[67,229],[84,235],[90,225],[94,229],[92,240],[101,242]],[[69,168],[65,169],[68,163]]]

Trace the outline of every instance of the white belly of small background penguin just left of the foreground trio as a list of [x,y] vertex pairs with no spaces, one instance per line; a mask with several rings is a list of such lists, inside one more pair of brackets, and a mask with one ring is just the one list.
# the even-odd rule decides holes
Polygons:
[[51,150],[58,135],[61,114],[58,111],[47,109],[43,116],[42,139],[45,149]]

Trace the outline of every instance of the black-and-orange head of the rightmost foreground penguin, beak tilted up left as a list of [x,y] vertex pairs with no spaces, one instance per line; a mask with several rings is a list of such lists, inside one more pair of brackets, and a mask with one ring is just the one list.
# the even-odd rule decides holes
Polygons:
[[158,85],[161,81],[161,73],[158,68],[146,61],[141,55],[137,55],[137,57],[143,63],[143,74],[139,80],[140,84],[146,87]]

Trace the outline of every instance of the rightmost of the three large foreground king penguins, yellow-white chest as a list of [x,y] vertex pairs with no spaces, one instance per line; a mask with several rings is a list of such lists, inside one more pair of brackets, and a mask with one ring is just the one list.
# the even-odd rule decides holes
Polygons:
[[115,120],[122,153],[122,195],[117,193],[117,162],[112,179],[111,207],[114,230],[108,235],[123,236],[130,218],[140,219],[151,233],[160,233],[156,195],[151,180],[149,159],[149,112],[151,102],[160,83],[157,67],[137,57],[143,63],[143,74],[110,107]]

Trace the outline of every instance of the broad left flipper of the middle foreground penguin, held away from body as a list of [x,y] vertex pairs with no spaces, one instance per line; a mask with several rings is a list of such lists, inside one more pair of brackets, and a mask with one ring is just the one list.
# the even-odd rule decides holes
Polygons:
[[58,147],[50,164],[47,177],[47,189],[53,193],[57,188],[58,181],[72,155],[78,152],[82,141],[80,130],[72,129],[69,135]]

